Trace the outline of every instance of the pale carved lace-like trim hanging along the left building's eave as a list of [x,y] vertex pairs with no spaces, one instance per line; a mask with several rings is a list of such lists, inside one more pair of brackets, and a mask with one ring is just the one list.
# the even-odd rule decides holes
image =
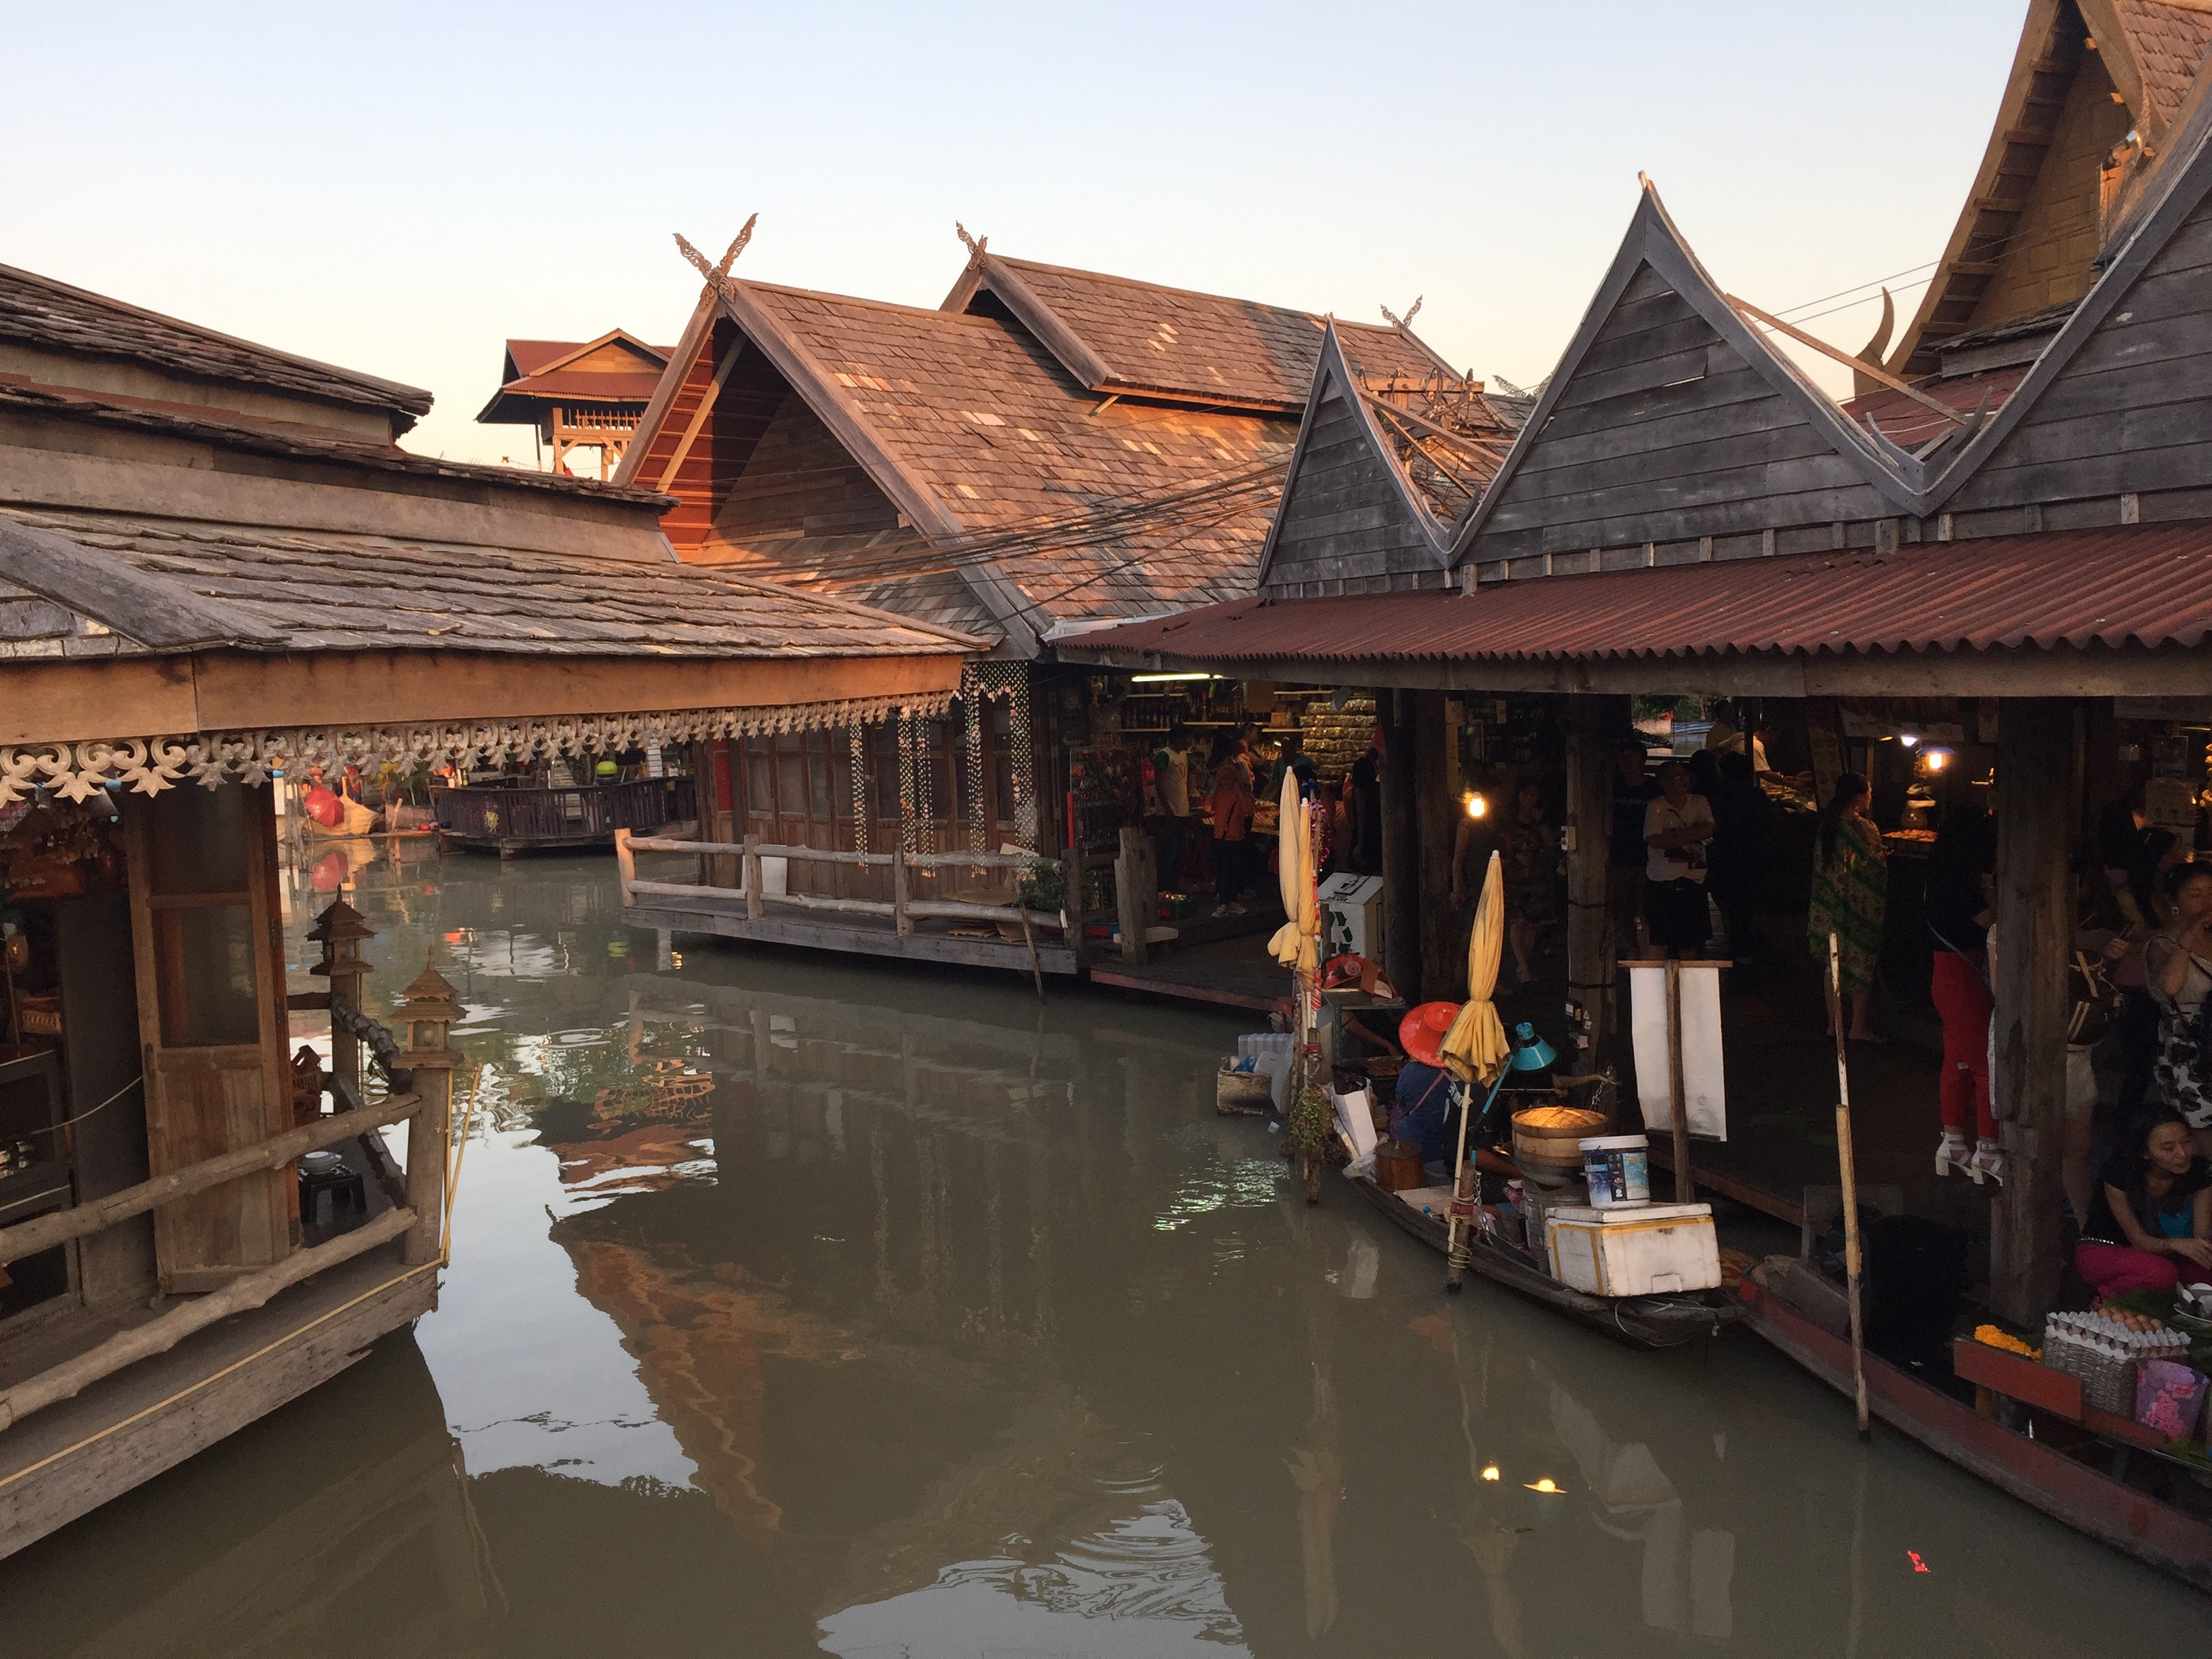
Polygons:
[[126,737],[86,743],[0,745],[0,805],[51,790],[86,801],[106,787],[161,794],[184,781],[204,790],[239,781],[268,783],[276,772],[312,765],[425,765],[493,757],[606,754],[657,743],[699,743],[719,737],[821,732],[880,726],[909,714],[938,719],[953,692],[858,697],[836,703],[774,708],[686,708],[657,714],[593,714],[542,721],[487,721],[471,726],[352,726],[272,732],[201,732],[197,737]]

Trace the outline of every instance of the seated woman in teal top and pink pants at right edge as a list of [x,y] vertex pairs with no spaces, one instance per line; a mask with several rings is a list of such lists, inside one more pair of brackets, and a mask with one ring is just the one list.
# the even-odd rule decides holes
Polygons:
[[2174,1108],[2150,1108],[2132,1146],[2104,1166],[2075,1245],[2075,1272],[2097,1301],[2130,1290],[2163,1292],[2181,1281],[2212,1283],[2212,1166]]

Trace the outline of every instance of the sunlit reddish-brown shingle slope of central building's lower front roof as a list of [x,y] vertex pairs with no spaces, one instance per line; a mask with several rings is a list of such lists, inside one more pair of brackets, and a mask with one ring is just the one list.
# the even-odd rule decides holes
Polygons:
[[[1294,420],[1128,403],[1102,409],[1006,319],[737,288],[827,376],[818,392],[876,438],[929,518],[953,526],[942,538],[953,553],[989,553],[1004,602],[1035,622],[1148,615],[1252,588]],[[1133,502],[1192,491],[1217,493],[1130,513]],[[916,557],[929,568],[927,553]],[[885,586],[869,591],[905,611],[891,577],[876,555],[867,580]]]

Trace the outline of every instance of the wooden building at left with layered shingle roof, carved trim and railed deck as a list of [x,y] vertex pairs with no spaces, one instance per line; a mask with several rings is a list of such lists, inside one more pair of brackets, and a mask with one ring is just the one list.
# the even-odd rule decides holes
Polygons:
[[653,491],[400,451],[427,407],[0,268],[0,1553],[436,1303],[458,1009],[365,989],[343,907],[288,987],[272,776],[936,712],[973,650],[686,566]]

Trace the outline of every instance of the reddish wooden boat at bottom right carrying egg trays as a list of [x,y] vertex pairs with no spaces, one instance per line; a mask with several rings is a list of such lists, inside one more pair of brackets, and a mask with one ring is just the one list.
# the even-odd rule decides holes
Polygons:
[[[1838,1394],[1854,1391],[1851,1345],[1845,1338],[1774,1285],[1756,1283],[1756,1276],[1745,1279],[1743,1298],[1745,1325]],[[2053,1385],[2070,1383],[2064,1374],[1980,1343],[1960,1343],[1962,1374],[2000,1380],[1997,1387],[1978,1383],[1978,1405],[1966,1405],[1876,1354],[1867,1354],[1865,1369],[1867,1409],[1938,1458],[2077,1533],[2212,1590],[2212,1491],[2203,1489],[2205,1471],[2168,1455],[2150,1429],[2079,1407],[2079,1385],[2070,1407],[2057,1400],[2062,1387]],[[2022,1427],[2008,1427],[2000,1413]],[[2143,1480],[2159,1491],[2137,1484]]]

